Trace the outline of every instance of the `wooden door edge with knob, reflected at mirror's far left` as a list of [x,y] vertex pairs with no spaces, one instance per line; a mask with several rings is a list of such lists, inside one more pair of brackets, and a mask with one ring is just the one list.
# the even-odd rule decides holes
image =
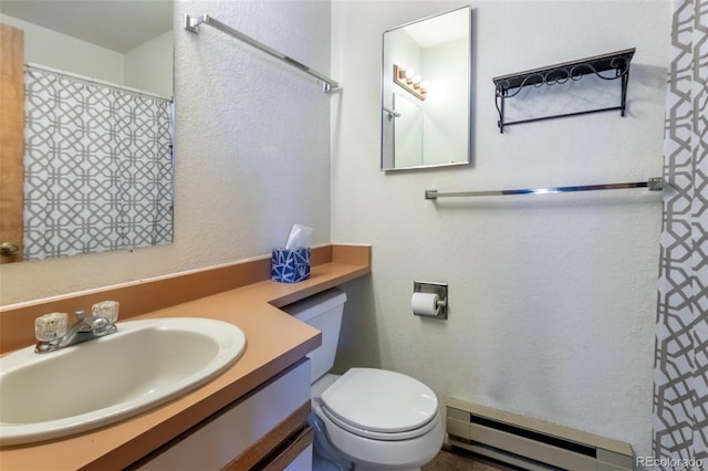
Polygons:
[[24,32],[0,24],[0,243],[18,247],[0,263],[22,260],[24,205]]

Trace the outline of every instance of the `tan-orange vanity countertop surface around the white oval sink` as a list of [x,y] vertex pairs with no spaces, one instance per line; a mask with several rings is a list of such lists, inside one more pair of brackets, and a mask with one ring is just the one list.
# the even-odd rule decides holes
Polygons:
[[214,380],[137,417],[61,440],[2,448],[0,469],[106,470],[129,465],[253,390],[321,344],[319,331],[278,306],[369,272],[371,248],[355,247],[344,257],[337,257],[335,251],[330,261],[312,266],[310,280],[300,283],[256,282],[131,318],[197,316],[221,320],[243,331],[247,347],[241,358]]

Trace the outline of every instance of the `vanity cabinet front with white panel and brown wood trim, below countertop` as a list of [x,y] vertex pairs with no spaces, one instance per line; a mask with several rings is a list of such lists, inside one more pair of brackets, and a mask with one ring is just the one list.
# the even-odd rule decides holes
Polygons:
[[310,360],[303,359],[128,469],[311,469],[309,415]]

